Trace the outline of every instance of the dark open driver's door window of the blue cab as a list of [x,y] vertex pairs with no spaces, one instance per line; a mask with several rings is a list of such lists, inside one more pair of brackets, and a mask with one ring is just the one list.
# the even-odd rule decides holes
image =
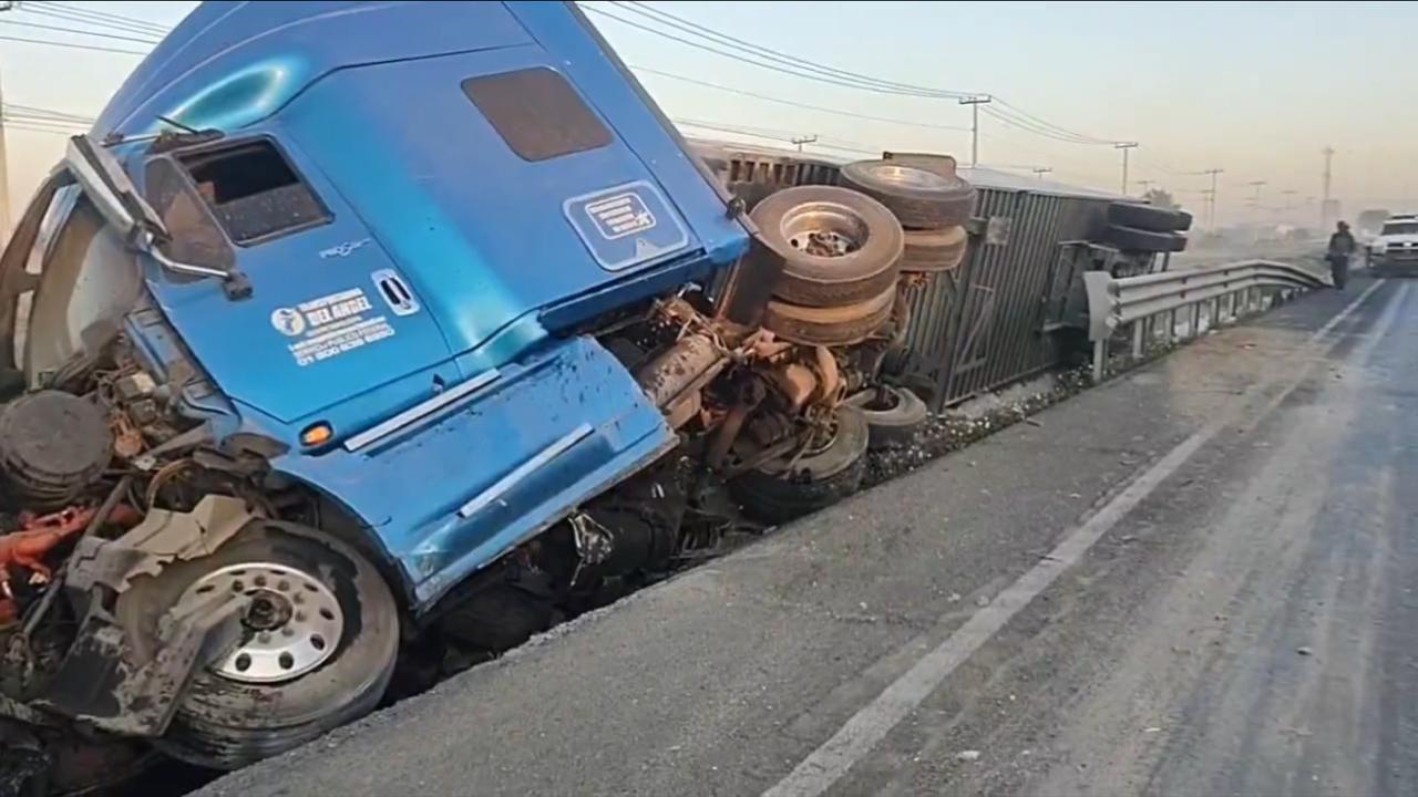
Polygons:
[[197,196],[237,245],[325,224],[330,213],[264,139],[177,153]]

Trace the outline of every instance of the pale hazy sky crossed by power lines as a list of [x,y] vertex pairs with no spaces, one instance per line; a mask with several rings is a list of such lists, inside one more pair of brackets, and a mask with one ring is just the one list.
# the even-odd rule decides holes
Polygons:
[[[146,50],[145,43],[35,28],[82,27],[129,38],[130,28],[78,26],[121,14],[176,24],[194,3],[18,3],[0,11],[0,35]],[[817,136],[805,152],[947,152],[970,160],[971,109],[953,98],[899,96],[828,85],[760,68],[638,30],[703,43],[634,11],[587,3],[591,20],[685,132],[769,146]],[[1200,208],[1224,169],[1225,223],[1314,224],[1324,159],[1346,217],[1366,207],[1418,210],[1418,87],[1412,34],[1418,3],[648,3],[689,23],[795,58],[873,78],[991,95],[1051,125],[1130,150],[1129,193],[1141,180]],[[58,9],[58,14],[55,14]],[[74,11],[77,10],[77,13]],[[23,23],[23,24],[21,24]],[[723,50],[723,45],[716,45]],[[140,57],[0,40],[6,104],[94,116]],[[671,72],[679,78],[651,72]],[[732,94],[685,81],[712,82]],[[803,105],[864,116],[868,121]],[[995,106],[1001,108],[1001,106]],[[922,125],[934,125],[937,129]],[[48,125],[54,128],[55,125]],[[11,216],[62,153],[64,136],[7,125]],[[847,149],[827,149],[824,145]],[[861,155],[866,157],[866,155]],[[980,163],[1056,182],[1119,190],[1122,153],[1110,143],[1065,143],[980,116]],[[1263,186],[1252,183],[1263,182]],[[1290,191],[1290,193],[1286,193]],[[1259,193],[1259,203],[1255,197]],[[1306,200],[1310,199],[1310,204]],[[1258,204],[1258,207],[1255,207]],[[1289,208],[1286,208],[1289,206]]]

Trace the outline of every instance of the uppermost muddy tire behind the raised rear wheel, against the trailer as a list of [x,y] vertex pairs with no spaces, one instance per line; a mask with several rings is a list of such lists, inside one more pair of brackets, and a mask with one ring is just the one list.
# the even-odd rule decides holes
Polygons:
[[956,176],[900,160],[858,160],[838,182],[876,199],[909,230],[960,227],[974,210],[974,187]]

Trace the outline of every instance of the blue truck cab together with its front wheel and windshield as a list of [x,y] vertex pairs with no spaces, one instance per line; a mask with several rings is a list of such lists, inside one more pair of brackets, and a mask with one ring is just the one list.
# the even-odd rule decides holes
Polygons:
[[[679,444],[588,330],[749,240],[571,3],[203,3],[71,142],[0,274],[28,302],[3,313],[28,391],[7,413],[82,427],[51,389],[121,339],[98,394],[147,485],[140,525],[77,543],[74,603],[108,603],[44,706],[218,767],[369,710],[401,627]],[[265,492],[184,499],[199,471]],[[292,491],[309,528],[271,498]],[[142,576],[223,543],[245,559],[160,600]],[[228,587],[262,641],[203,669]]]

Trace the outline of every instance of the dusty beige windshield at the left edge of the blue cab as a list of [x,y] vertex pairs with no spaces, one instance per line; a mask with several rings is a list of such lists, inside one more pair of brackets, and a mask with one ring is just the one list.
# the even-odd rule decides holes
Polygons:
[[78,186],[55,194],[26,269],[40,282],[21,296],[16,349],[26,380],[38,387],[112,340],[138,299],[140,274],[133,252]]

